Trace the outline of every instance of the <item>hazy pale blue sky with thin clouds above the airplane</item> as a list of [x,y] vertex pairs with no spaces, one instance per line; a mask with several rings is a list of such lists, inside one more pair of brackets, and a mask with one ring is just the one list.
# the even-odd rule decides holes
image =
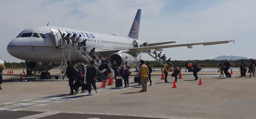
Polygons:
[[[139,39],[148,43],[176,44],[232,40],[215,46],[164,49],[172,60],[203,60],[220,55],[256,58],[254,0],[2,0],[0,55],[12,57],[6,46],[29,27],[59,26],[127,36],[137,9],[142,10]],[[147,54],[143,59],[153,60]]]

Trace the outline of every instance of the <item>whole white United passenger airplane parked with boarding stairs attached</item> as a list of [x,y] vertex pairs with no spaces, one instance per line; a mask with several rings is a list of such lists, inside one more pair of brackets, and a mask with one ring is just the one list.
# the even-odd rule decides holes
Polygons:
[[[131,67],[138,65],[138,55],[145,50],[162,51],[163,48],[183,47],[193,48],[194,45],[216,45],[226,44],[233,40],[214,41],[205,43],[180,44],[180,45],[165,45],[176,43],[168,41],[163,43],[147,44],[143,46],[143,41],[138,39],[140,27],[141,9],[138,9],[133,20],[131,29],[126,37],[119,34],[102,34],[84,30],[76,30],[54,26],[39,26],[25,29],[18,34],[7,46],[7,51],[12,56],[25,60],[28,70],[46,70],[44,75],[50,78],[51,74],[48,70],[59,66],[62,62],[62,34],[70,33],[82,35],[82,39],[87,39],[86,53],[89,54],[91,48],[96,48],[95,51],[102,57],[110,57],[110,61],[116,61],[120,67],[122,63],[128,62]],[[234,41],[233,41],[234,42]],[[66,44],[67,45],[67,44]],[[72,44],[73,45],[73,44]],[[64,49],[63,55],[67,57],[70,49]],[[70,51],[70,61],[77,62],[82,59],[82,55],[75,50]]]

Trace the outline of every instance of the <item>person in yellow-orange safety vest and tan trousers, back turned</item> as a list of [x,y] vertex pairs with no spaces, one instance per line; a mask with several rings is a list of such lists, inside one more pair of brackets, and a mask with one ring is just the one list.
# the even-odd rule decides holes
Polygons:
[[138,70],[138,73],[136,75],[136,77],[138,77],[138,75],[140,75],[141,86],[142,86],[142,90],[140,92],[147,91],[148,73],[149,72],[148,72],[147,66],[145,65],[145,61],[144,60],[140,60],[139,70]]

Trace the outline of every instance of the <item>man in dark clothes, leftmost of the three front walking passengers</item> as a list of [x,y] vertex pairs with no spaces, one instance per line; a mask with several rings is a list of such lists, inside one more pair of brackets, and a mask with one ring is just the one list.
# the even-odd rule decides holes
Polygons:
[[77,94],[78,90],[75,91],[75,94],[74,94],[74,81],[76,79],[75,77],[75,67],[74,65],[71,64],[71,61],[67,61],[67,70],[66,70],[66,73],[64,74],[64,76],[62,77],[62,80],[64,80],[64,78],[67,76],[68,79],[69,79],[69,87],[70,87],[70,95],[75,95]]

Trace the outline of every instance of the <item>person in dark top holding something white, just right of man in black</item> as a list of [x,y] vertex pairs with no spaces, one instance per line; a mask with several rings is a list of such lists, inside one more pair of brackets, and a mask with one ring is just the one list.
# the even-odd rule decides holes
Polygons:
[[100,79],[101,81],[104,81],[104,87],[106,87],[106,80],[108,79],[108,70],[109,66],[105,63],[105,61],[101,61],[101,64],[99,66],[99,70],[101,71]]

